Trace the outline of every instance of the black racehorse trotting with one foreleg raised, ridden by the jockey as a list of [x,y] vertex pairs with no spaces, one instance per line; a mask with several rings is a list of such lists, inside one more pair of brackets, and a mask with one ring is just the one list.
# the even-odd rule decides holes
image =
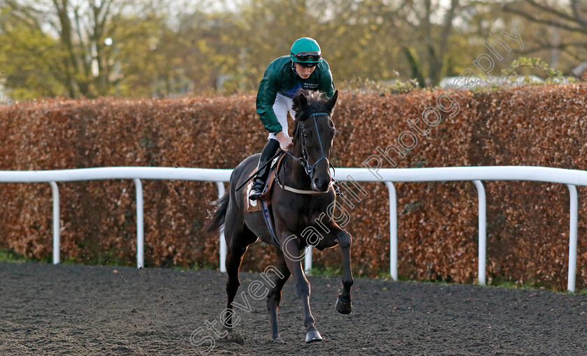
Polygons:
[[335,191],[328,161],[335,134],[331,114],[337,98],[338,91],[326,101],[317,91],[303,90],[298,91],[293,98],[293,109],[296,110],[293,147],[284,157],[282,168],[277,175],[279,184],[275,182],[270,198],[270,211],[275,219],[275,235],[278,241],[270,235],[263,221],[262,212],[244,212],[248,199],[246,189],[235,191],[235,187],[240,186],[251,172],[254,172],[259,154],[249,156],[233,170],[229,192],[213,203],[215,212],[208,230],[218,230],[224,223],[224,236],[228,247],[226,308],[229,313],[226,321],[223,320],[224,328],[228,331],[233,327],[233,301],[240,285],[238,271],[242,256],[247,251],[247,246],[257,239],[277,247],[277,265],[273,271],[275,278],[270,283],[272,288],[267,292],[267,309],[273,340],[283,342],[277,327],[277,309],[280,306],[282,288],[290,275],[296,280],[296,290],[304,306],[304,325],[307,328],[305,340],[322,340],[314,326],[314,317],[310,311],[310,283],[301,264],[305,247],[309,244],[320,251],[337,244],[340,246],[343,291],[338,296],[336,309],[343,314],[352,311],[352,237],[349,232],[340,228],[335,218],[333,219]]

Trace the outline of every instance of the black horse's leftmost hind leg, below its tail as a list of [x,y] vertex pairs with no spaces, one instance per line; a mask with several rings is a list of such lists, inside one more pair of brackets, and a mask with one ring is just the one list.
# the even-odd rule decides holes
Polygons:
[[[229,210],[230,212],[230,210]],[[228,214],[227,214],[228,216]],[[235,219],[239,220],[239,219]],[[228,223],[225,228],[226,238],[226,274],[228,279],[226,280],[226,295],[228,300],[226,301],[226,309],[229,309],[229,313],[226,313],[226,321],[224,321],[224,328],[229,332],[233,328],[232,316],[233,316],[233,305],[234,297],[240,285],[238,279],[238,270],[242,262],[242,256],[245,255],[247,247],[256,241],[256,236],[247,228],[247,226],[241,223]],[[238,320],[238,319],[237,319]]]

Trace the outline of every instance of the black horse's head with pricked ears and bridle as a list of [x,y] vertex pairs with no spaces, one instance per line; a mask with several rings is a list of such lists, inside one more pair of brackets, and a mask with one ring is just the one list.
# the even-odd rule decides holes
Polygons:
[[293,97],[293,110],[296,110],[293,151],[304,158],[314,191],[327,191],[331,182],[329,160],[335,133],[331,115],[337,99],[338,91],[326,101],[319,91],[303,89]]

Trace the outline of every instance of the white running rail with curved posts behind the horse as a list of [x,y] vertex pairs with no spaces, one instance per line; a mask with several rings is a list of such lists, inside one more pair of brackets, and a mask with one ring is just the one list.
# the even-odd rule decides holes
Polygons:
[[[96,179],[133,179],[137,198],[137,267],[144,267],[143,236],[143,186],[140,179],[180,179],[191,181],[215,181],[219,196],[224,195],[224,182],[229,181],[232,170],[208,168],[153,168],[111,167],[82,168],[75,170],[0,171],[0,182],[50,183],[53,195],[53,263],[59,263],[59,181],[85,181]],[[396,190],[397,181],[473,181],[479,195],[479,284],[486,283],[486,202],[481,181],[521,180],[567,184],[570,192],[569,271],[567,289],[574,291],[577,271],[577,186],[587,185],[587,171],[562,168],[496,166],[496,167],[447,167],[447,168],[337,168],[338,181],[381,181],[389,191],[390,274],[398,279],[398,220]],[[226,272],[226,242],[220,233],[220,270]],[[312,250],[306,254],[305,269],[312,269]]]

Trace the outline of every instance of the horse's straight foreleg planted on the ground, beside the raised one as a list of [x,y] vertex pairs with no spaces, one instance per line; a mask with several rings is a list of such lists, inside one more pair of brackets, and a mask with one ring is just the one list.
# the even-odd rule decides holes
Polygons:
[[296,290],[298,297],[302,299],[304,305],[304,326],[306,327],[306,342],[321,341],[322,336],[314,326],[316,320],[312,316],[310,311],[310,282],[305,278],[304,271],[302,269],[303,260],[303,249],[300,249],[299,241],[297,238],[291,238],[291,234],[283,235],[281,240],[282,251],[285,257],[285,263],[289,272],[291,272],[294,279],[296,279]]

